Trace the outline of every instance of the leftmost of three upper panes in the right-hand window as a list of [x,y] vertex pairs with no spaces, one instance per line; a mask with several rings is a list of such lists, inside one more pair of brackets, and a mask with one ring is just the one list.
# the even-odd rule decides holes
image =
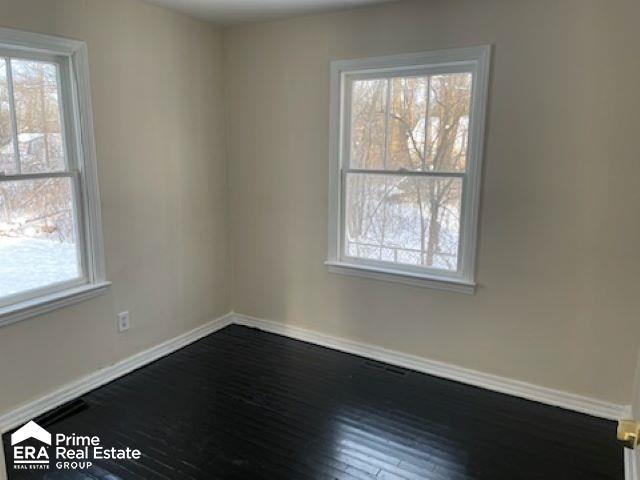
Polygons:
[[351,100],[351,168],[385,163],[387,80],[356,80]]

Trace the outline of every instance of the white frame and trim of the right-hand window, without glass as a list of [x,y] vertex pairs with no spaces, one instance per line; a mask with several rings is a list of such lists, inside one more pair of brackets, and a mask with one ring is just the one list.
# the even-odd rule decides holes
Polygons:
[[[488,96],[491,46],[474,46],[406,55],[331,62],[331,120],[329,159],[329,272],[374,278],[461,293],[475,291],[480,182]],[[385,78],[403,74],[469,72],[473,75],[467,169],[463,181],[458,270],[448,272],[427,267],[358,259],[344,255],[345,185],[348,171],[350,94],[354,79]],[[393,173],[393,172],[391,172]],[[405,174],[405,172],[403,172]],[[423,176],[437,176],[437,172]]]

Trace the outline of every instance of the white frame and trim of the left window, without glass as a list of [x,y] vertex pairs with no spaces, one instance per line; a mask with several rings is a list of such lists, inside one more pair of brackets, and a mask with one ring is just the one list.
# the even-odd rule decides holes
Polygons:
[[59,66],[69,168],[53,174],[3,175],[0,181],[55,176],[74,180],[77,240],[84,274],[77,280],[12,296],[10,303],[0,306],[2,327],[95,297],[111,283],[105,272],[87,45],[67,38],[0,28],[0,57],[51,61]]

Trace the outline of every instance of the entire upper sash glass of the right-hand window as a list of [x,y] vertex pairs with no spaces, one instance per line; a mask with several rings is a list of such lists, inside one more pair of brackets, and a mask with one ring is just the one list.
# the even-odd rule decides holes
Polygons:
[[471,86],[471,73],[354,81],[350,167],[464,171]]

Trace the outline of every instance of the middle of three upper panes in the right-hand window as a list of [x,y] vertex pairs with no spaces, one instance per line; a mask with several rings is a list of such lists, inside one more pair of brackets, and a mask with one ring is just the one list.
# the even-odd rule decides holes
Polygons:
[[400,77],[391,80],[389,117],[389,159],[387,168],[425,170],[428,77]]

